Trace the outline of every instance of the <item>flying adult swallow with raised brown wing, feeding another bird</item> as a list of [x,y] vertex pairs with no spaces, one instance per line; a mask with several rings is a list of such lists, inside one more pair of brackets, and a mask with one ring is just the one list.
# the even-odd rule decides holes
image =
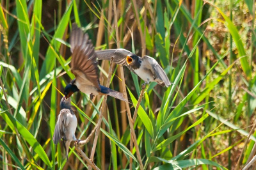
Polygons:
[[100,85],[98,61],[94,47],[88,35],[84,34],[76,24],[72,24],[70,46],[72,52],[71,72],[76,79],[65,87],[64,95],[66,98],[69,98],[76,91],[82,91],[90,95],[91,100],[95,95],[109,95],[126,101],[122,93]]

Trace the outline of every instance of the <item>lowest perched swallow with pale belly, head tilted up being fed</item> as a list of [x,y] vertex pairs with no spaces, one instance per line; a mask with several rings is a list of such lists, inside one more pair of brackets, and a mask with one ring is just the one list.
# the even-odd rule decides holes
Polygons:
[[62,139],[63,146],[66,151],[66,158],[68,161],[68,148],[72,141],[76,141],[76,127],[77,118],[71,109],[70,98],[63,97],[60,102],[60,114],[58,116],[58,121],[55,125],[54,134],[52,137],[53,143],[58,144],[60,139]]

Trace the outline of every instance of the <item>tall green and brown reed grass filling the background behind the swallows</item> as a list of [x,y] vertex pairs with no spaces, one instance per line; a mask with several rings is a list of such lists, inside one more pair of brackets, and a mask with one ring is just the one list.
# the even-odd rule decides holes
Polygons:
[[99,62],[100,83],[110,81],[112,89],[127,91],[131,104],[73,95],[78,139],[86,139],[102,115],[99,139],[81,147],[97,167],[239,169],[252,163],[254,0],[0,3],[3,169],[87,167],[73,143],[66,162],[62,146],[51,140],[61,92],[74,79],[68,66],[72,22],[98,50],[118,47],[154,57],[173,82],[169,88],[151,82],[141,92],[143,81],[136,74],[117,65],[110,74],[109,62]]

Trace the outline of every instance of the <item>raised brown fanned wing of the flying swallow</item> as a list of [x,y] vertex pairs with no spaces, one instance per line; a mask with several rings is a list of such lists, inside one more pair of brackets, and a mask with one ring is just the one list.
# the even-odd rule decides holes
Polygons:
[[[72,32],[70,36],[70,45],[72,54],[71,72],[76,77],[83,78],[83,82],[93,84],[99,87],[98,77],[98,61],[91,40],[88,35],[72,24]],[[82,74],[82,75],[81,75]]]

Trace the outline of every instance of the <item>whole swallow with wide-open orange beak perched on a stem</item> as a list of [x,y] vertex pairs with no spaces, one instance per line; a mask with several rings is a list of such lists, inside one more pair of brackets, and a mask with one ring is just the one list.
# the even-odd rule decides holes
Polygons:
[[95,52],[99,60],[107,59],[110,61],[113,58],[113,63],[127,66],[145,81],[143,86],[152,81],[166,87],[172,84],[156,59],[150,56],[141,58],[125,49],[97,50]]

